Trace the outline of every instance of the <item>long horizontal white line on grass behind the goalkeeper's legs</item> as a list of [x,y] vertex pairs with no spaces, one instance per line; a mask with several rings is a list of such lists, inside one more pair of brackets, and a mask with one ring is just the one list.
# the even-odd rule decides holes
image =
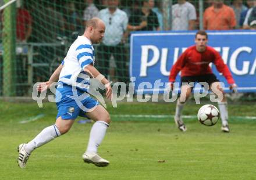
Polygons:
[[[126,118],[173,118],[173,115],[147,115],[147,114],[111,114],[111,117],[126,117]],[[182,118],[197,118],[197,116],[184,115]],[[231,116],[230,118],[256,120],[256,116]]]

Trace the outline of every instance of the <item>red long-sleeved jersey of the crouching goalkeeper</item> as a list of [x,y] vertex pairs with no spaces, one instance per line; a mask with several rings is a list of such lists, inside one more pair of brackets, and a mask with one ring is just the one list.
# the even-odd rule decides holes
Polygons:
[[170,70],[169,81],[175,82],[176,75],[182,71],[183,76],[212,74],[209,63],[224,75],[229,84],[234,84],[232,74],[223,62],[221,55],[212,47],[207,46],[204,52],[198,52],[194,46],[187,48]]

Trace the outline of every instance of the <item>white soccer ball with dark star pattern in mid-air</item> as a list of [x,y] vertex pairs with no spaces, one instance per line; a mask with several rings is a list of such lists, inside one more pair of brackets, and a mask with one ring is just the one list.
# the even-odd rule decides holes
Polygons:
[[214,105],[204,105],[198,110],[197,118],[201,124],[212,126],[219,120],[219,110]]

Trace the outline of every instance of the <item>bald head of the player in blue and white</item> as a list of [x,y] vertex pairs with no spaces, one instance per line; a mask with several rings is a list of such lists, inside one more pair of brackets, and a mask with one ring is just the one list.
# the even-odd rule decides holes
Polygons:
[[94,17],[87,21],[86,31],[84,34],[93,44],[98,44],[102,41],[105,33],[105,24],[98,17]]

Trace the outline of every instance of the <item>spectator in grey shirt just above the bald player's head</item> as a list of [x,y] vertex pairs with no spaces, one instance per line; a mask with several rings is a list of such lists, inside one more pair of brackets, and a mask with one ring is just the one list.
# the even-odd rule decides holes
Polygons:
[[99,12],[98,8],[96,8],[93,3],[93,0],[85,0],[85,2],[87,4],[87,7],[86,9],[84,9],[84,27],[86,27],[86,22],[93,17],[97,17]]

